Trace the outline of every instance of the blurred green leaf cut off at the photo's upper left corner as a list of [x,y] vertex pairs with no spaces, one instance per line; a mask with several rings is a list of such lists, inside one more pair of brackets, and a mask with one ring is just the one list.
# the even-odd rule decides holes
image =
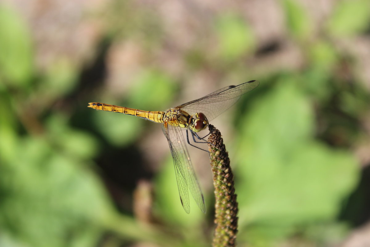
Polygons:
[[30,33],[19,13],[0,4],[0,76],[26,86],[33,76]]

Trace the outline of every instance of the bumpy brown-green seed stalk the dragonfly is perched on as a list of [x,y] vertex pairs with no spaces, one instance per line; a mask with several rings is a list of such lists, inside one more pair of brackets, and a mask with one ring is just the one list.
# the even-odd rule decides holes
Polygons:
[[209,157],[215,186],[215,234],[213,247],[235,246],[238,232],[238,203],[234,188],[233,173],[230,159],[221,133],[214,126],[209,126],[211,134],[208,137]]

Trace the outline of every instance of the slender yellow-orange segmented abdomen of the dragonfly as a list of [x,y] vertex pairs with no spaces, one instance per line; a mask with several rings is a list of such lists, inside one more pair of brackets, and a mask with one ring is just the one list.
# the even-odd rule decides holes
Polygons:
[[113,112],[123,113],[127,115],[137,116],[143,119],[154,121],[156,123],[163,123],[163,118],[165,114],[163,111],[143,111],[143,110],[138,110],[138,109],[132,109],[129,107],[114,106],[110,104],[96,103],[96,102],[89,103],[87,107],[90,107],[95,110],[113,111]]

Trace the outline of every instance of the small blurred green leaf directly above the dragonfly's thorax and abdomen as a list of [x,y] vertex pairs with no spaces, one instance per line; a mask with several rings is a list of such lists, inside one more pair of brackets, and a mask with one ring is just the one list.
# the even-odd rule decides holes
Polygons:
[[[141,73],[131,88],[129,102],[131,108],[149,111],[163,111],[172,107],[175,84],[172,79],[157,70]],[[149,109],[150,107],[150,109]]]

